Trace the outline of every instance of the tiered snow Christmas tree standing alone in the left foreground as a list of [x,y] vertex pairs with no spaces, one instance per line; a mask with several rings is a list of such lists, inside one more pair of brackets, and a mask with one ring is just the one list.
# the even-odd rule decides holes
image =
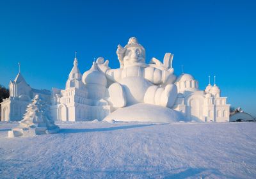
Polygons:
[[8,131],[8,137],[35,136],[38,134],[53,134],[60,130],[49,118],[49,106],[40,99],[39,95],[33,98],[26,109],[27,113],[17,128]]

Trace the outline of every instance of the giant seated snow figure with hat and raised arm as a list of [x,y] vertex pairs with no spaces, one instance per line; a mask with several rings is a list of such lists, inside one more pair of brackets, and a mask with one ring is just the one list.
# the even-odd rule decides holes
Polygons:
[[177,86],[172,68],[172,54],[164,56],[164,64],[152,58],[145,63],[145,49],[135,37],[125,47],[118,45],[116,51],[120,68],[111,69],[108,60],[98,58],[99,70],[113,84],[109,86],[109,97],[114,107],[145,103],[171,108],[177,97]]

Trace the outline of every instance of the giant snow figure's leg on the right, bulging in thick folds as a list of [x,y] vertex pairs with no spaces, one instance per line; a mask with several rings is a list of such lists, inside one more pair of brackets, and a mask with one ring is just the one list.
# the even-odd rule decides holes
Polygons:
[[177,86],[175,84],[168,84],[165,88],[150,86],[145,93],[144,102],[171,108],[176,98]]

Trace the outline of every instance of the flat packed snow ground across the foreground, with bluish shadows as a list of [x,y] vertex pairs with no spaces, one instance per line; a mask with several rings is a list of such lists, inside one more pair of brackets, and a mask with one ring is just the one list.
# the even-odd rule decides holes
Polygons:
[[255,178],[256,123],[58,123],[7,138],[0,178]]

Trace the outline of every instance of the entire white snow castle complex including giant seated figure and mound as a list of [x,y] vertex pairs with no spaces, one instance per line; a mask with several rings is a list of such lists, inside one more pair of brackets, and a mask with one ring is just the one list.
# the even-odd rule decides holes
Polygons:
[[[120,68],[111,69],[108,60],[100,57],[82,75],[75,56],[65,89],[52,88],[44,95],[51,100],[51,115],[60,121],[120,120],[170,122],[180,120],[228,121],[227,97],[215,83],[205,90],[190,74],[174,74],[173,54],[166,53],[163,63],[152,58],[145,63],[145,49],[137,38],[127,45],[118,45]],[[15,112],[14,104],[35,97],[19,73],[10,82],[10,98],[1,103],[1,120],[21,120],[25,109]],[[19,88],[15,87],[19,85]],[[33,90],[32,90],[33,91]],[[14,117],[15,116],[15,117]]]

